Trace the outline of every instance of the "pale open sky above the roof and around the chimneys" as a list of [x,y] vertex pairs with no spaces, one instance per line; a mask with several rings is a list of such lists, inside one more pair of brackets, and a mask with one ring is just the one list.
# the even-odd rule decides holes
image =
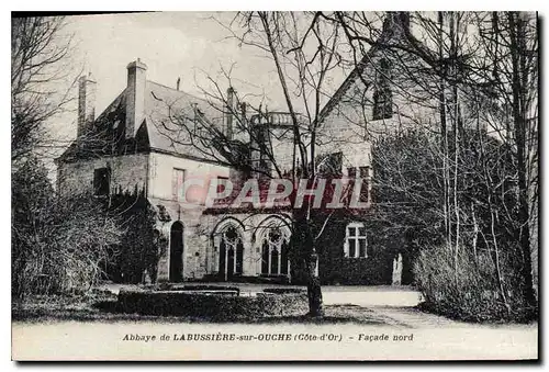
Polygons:
[[[157,12],[78,15],[67,19],[64,32],[72,37],[71,66],[91,72],[97,86],[96,115],[126,86],[126,66],[141,58],[147,79],[201,95],[206,77],[219,79],[232,69],[239,93],[265,95],[269,110],[283,110],[284,101],[272,60],[257,48],[228,37],[234,12]],[[343,76],[340,80],[343,81]],[[76,93],[76,88],[75,88]],[[72,105],[76,110],[76,102]],[[57,120],[60,136],[76,134],[76,111]]]

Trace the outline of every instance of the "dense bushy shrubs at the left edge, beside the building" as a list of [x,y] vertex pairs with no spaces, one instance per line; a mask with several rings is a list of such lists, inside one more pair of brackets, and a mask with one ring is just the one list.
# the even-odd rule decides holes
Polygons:
[[34,158],[12,172],[12,292],[83,291],[122,236],[115,218],[92,195],[55,194]]

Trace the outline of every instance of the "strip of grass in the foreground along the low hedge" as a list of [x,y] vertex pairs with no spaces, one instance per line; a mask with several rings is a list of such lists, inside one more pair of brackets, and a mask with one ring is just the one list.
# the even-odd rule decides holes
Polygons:
[[325,305],[325,316],[311,318],[304,314],[287,316],[248,317],[235,322],[190,316],[154,316],[125,314],[119,311],[116,295],[92,292],[86,295],[31,296],[12,304],[12,320],[24,323],[45,322],[155,322],[155,323],[243,323],[243,324],[361,324],[383,325],[382,318],[358,305]]

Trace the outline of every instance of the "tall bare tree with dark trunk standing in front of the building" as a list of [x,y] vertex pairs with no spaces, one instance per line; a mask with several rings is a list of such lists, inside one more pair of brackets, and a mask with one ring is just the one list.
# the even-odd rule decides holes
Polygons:
[[[210,77],[211,88],[203,93],[219,116],[231,117],[224,126],[204,113],[170,110],[170,124],[164,125],[166,135],[175,143],[192,146],[202,157],[214,159],[240,171],[244,178],[287,178],[306,180],[312,185],[321,177],[318,170],[326,157],[318,156],[323,142],[318,124],[322,104],[326,101],[327,79],[340,61],[339,30],[306,21],[314,14],[293,12],[244,12],[232,24],[224,25],[229,37],[242,45],[262,50],[277,71],[285,112],[269,112],[260,103],[254,106],[233,89],[231,70],[223,71],[229,86],[225,94],[219,81]],[[312,35],[314,43],[303,41]],[[183,110],[184,111],[184,110]],[[291,159],[281,160],[273,143],[274,120],[289,129],[284,140],[290,144]],[[325,140],[325,138],[324,138]],[[292,145],[293,144],[293,145]],[[253,176],[256,174],[256,176]],[[318,252],[315,241],[329,218],[318,219],[312,201],[291,210],[293,247],[304,262],[307,275],[310,315],[322,316],[321,280],[317,273]]]

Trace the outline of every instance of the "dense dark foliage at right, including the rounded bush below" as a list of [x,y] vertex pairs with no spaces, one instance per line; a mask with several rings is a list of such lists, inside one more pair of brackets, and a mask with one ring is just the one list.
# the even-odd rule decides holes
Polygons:
[[[459,218],[448,218],[439,144],[435,134],[421,131],[374,142],[373,219],[379,233],[405,237],[401,249],[417,257],[415,279],[435,311],[467,319],[529,316],[519,295],[525,284],[515,235],[516,165],[500,140],[482,131],[463,131],[459,154],[451,155],[461,174],[455,181]],[[448,244],[448,230],[459,245]]]

